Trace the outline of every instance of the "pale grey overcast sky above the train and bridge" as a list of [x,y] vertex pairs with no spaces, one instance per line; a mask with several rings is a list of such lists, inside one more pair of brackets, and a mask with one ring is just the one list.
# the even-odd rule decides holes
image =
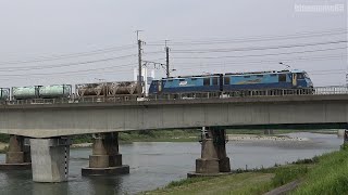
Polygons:
[[[323,4],[344,10],[295,10]],[[0,25],[1,87],[132,80],[137,29],[144,60],[164,63],[170,40],[173,76],[283,69],[285,62],[309,72],[314,86],[346,82],[346,0],[0,0]],[[89,53],[96,50],[105,52]],[[115,60],[90,63],[105,58]]]

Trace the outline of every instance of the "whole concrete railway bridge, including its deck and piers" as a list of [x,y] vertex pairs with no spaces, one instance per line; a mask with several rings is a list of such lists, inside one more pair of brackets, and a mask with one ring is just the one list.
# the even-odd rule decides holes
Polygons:
[[312,94],[250,92],[248,96],[165,98],[110,102],[58,101],[0,105],[0,133],[10,134],[7,164],[28,167],[24,138],[29,140],[33,180],[67,180],[70,135],[95,134],[89,167],[83,174],[127,173],[117,132],[156,129],[202,129],[202,155],[196,173],[229,172],[225,129],[346,129],[346,87],[314,89]]

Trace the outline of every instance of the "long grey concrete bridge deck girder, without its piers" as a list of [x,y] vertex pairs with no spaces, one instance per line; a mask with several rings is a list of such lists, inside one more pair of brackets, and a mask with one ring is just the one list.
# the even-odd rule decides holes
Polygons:
[[146,129],[346,126],[348,94],[0,106],[0,133],[32,138]]

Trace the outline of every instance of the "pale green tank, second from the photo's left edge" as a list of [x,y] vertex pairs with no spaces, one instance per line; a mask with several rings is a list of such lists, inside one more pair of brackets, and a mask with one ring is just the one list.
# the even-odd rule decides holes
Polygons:
[[13,100],[38,99],[40,87],[41,86],[12,87],[12,99]]

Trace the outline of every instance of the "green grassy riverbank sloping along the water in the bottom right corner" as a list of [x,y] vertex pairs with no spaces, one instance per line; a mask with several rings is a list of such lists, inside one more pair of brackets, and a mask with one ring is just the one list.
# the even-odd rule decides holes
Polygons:
[[290,182],[286,187],[295,195],[345,194],[348,192],[348,150],[346,146],[291,165],[237,172],[220,178],[185,179],[144,194],[263,194],[275,188],[281,191],[279,186]]

